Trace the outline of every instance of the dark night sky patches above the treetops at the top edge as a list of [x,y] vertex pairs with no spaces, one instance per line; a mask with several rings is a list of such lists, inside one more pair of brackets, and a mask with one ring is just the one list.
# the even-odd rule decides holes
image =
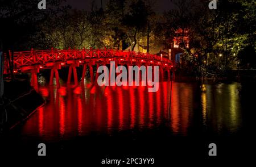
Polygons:
[[[107,1],[108,0],[102,0],[103,7],[105,7]],[[67,0],[67,4],[71,5],[73,8],[85,10],[90,10],[91,2],[91,0]],[[96,5],[101,7],[101,0],[96,0]],[[154,8],[156,11],[170,10],[172,4],[170,0],[158,0]]]

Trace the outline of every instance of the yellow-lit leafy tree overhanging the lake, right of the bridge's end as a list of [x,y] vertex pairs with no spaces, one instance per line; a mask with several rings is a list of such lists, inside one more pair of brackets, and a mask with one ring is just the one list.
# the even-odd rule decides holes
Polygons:
[[[180,47],[184,64],[193,66],[198,76],[218,76],[233,69],[241,49],[255,44],[255,38],[251,38],[255,32],[255,18],[251,18],[255,16],[255,2],[220,0],[218,10],[209,10],[205,1],[173,2],[178,7],[167,15],[171,30],[189,28],[190,47],[182,42]],[[254,7],[248,6],[252,3]]]

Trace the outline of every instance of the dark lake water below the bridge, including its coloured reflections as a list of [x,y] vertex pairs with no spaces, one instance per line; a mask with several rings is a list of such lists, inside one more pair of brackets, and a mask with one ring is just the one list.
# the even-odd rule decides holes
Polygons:
[[46,105],[10,135],[10,155],[18,148],[18,155],[38,158],[38,144],[46,143],[47,158],[97,165],[105,157],[148,157],[172,164],[170,158],[209,158],[210,143],[221,158],[249,157],[255,148],[253,82],[160,82],[156,93],[84,82],[60,89],[42,84],[38,91]]

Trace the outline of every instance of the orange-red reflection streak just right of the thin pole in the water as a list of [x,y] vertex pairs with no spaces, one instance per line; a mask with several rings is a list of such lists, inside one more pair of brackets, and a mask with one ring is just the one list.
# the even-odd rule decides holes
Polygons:
[[179,92],[174,83],[172,83],[172,99],[171,99],[171,127],[172,131],[179,132]]

